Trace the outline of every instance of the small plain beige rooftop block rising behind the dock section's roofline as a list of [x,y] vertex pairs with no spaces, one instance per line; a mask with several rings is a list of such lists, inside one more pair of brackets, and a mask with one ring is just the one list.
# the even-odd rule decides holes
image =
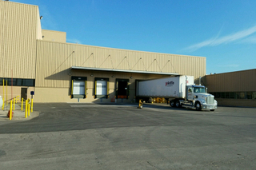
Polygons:
[[42,30],[42,40],[49,42],[66,42],[66,32]]

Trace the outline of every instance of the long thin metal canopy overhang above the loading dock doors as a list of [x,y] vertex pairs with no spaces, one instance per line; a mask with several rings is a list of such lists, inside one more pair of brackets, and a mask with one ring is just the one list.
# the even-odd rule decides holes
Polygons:
[[161,75],[179,75],[178,73],[150,72],[150,71],[138,71],[138,70],[129,70],[129,69],[102,69],[102,68],[78,67],[78,66],[72,66],[71,69],[122,72],[122,73],[150,73],[150,74],[161,74]]

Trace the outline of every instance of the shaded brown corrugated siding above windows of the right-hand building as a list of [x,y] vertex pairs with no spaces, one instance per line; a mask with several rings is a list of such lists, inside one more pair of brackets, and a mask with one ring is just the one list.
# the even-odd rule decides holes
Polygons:
[[256,91],[256,69],[207,75],[209,92],[250,92]]

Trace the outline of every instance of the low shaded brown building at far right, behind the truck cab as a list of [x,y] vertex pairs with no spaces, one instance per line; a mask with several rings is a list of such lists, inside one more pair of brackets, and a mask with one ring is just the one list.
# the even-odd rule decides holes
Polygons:
[[202,77],[218,105],[256,107],[256,69]]

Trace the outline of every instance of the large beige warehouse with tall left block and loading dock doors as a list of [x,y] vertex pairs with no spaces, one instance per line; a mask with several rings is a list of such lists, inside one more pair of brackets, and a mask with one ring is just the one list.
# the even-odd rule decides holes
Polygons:
[[206,75],[206,57],[67,43],[65,32],[42,30],[38,6],[0,1],[0,9],[5,100],[34,92],[34,102],[134,102],[136,81]]

